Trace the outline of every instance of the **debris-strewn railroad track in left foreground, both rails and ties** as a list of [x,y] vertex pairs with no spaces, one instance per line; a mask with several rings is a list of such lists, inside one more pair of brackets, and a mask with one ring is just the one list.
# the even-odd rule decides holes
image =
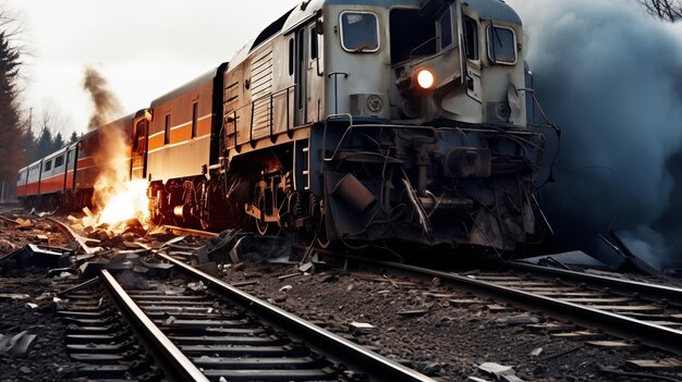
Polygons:
[[[124,288],[101,270],[90,282],[60,294],[69,307],[60,311],[69,324],[68,349],[81,363],[82,377],[108,381],[433,381],[159,248],[154,251],[178,275],[137,280]],[[187,288],[191,282],[199,286]]]

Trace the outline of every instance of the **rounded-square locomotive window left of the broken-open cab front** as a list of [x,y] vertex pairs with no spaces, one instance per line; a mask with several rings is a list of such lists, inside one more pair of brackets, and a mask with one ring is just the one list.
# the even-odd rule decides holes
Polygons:
[[369,12],[341,12],[341,47],[349,52],[379,50],[379,23]]

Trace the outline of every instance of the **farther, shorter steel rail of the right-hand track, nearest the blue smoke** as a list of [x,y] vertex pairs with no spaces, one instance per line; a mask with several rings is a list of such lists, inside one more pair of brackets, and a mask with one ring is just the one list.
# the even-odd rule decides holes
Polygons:
[[608,286],[612,292],[632,295],[638,293],[641,297],[658,300],[667,299],[669,304],[682,306],[682,288],[674,286],[649,284],[640,281],[622,280],[599,274],[589,274],[558,268],[546,268],[520,261],[506,263],[513,269],[523,269],[534,273],[558,275],[567,280],[599,283]]

